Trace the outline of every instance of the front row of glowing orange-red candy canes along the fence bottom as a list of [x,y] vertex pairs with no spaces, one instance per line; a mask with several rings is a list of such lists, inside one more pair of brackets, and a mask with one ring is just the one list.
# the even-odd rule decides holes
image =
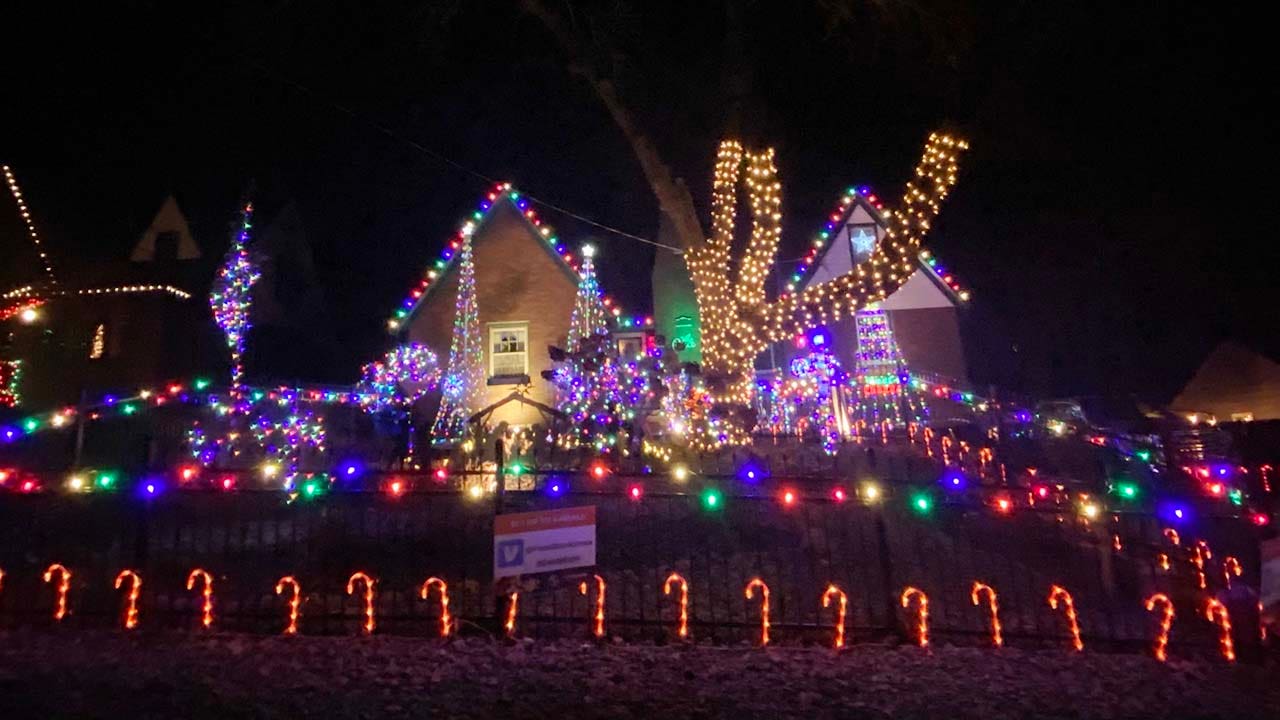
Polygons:
[[[46,583],[52,583],[54,578],[58,578],[56,584],[56,602],[54,606],[54,620],[63,620],[67,616],[67,601],[70,592],[72,573],[64,565],[52,564],[45,570],[44,579]],[[594,612],[591,615],[591,634],[596,638],[603,638],[604,632],[604,602],[605,602],[605,582],[600,575],[591,575],[595,584],[595,603]],[[205,629],[212,628],[214,624],[214,577],[201,569],[196,568],[187,575],[187,589],[195,589],[196,583],[201,583],[201,625]],[[4,583],[4,571],[0,570],[0,588]],[[124,629],[132,630],[138,626],[138,598],[142,589],[142,577],[134,570],[122,570],[115,578],[115,588],[120,589],[128,583],[128,594],[125,596],[125,606],[123,614]],[[375,593],[376,593],[378,580],[364,571],[357,571],[351,575],[347,580],[347,594],[356,594],[356,589],[364,585],[364,632],[365,634],[372,634],[376,619],[375,619]],[[456,629],[456,621],[449,615],[449,587],[448,583],[440,578],[431,577],[422,583],[420,589],[420,596],[422,600],[428,600],[431,588],[436,588],[440,598],[440,637],[449,637]],[[678,573],[672,573],[667,577],[663,583],[663,594],[671,594],[672,588],[678,588],[678,625],[676,629],[677,635],[681,639],[689,638],[689,582],[681,577]],[[284,628],[284,634],[296,635],[298,633],[298,616],[301,614],[302,603],[302,585],[292,575],[285,575],[275,584],[275,594],[284,594],[289,591],[288,600],[288,623]],[[581,594],[588,594],[589,583],[582,582],[579,584],[579,592]],[[746,600],[754,600],[756,593],[760,597],[760,644],[769,644],[769,585],[762,578],[751,578],[744,589]],[[1004,647],[1004,630],[1000,623],[1000,605],[997,601],[996,589],[986,583],[974,582],[970,589],[970,600],[973,605],[980,606],[983,603],[983,596],[986,596],[987,612],[989,614],[991,624],[991,642],[995,647]],[[515,637],[516,632],[516,618],[520,607],[520,592],[512,592],[507,596],[507,615],[503,628],[508,637]],[[822,607],[831,607],[832,602],[836,603],[836,625],[835,625],[835,641],[833,647],[845,647],[845,619],[849,606],[849,596],[840,589],[836,584],[827,585],[826,591],[822,593]],[[914,634],[915,642],[920,647],[929,646],[929,597],[928,594],[915,587],[906,587],[902,589],[899,597],[900,603],[904,609],[911,606],[915,602],[915,623]],[[1068,632],[1071,638],[1071,647],[1080,652],[1084,650],[1084,641],[1080,635],[1080,623],[1079,616],[1075,611],[1075,600],[1071,593],[1061,585],[1051,585],[1048,593],[1048,605],[1052,610],[1061,609],[1064,618],[1066,620]],[[1169,647],[1169,633],[1174,621],[1174,603],[1169,596],[1164,593],[1156,593],[1144,601],[1144,606],[1148,611],[1155,612],[1157,606],[1160,607],[1160,630],[1155,638],[1155,646],[1152,653],[1157,660],[1164,662],[1167,660],[1167,647]],[[1235,644],[1231,638],[1231,620],[1228,609],[1222,602],[1216,598],[1208,598],[1204,605],[1204,616],[1210,623],[1213,623],[1219,628],[1219,646],[1222,656],[1229,660],[1235,660]],[[1265,637],[1265,635],[1263,635]]]

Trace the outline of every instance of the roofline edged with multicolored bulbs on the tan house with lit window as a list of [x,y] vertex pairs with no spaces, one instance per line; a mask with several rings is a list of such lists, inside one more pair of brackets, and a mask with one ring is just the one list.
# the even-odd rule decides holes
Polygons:
[[[511,186],[509,182],[498,183],[489,191],[488,195],[480,199],[476,210],[458,225],[457,232],[440,250],[440,256],[426,268],[426,272],[422,274],[422,281],[408,292],[404,300],[401,301],[399,307],[396,309],[396,313],[387,320],[387,328],[390,332],[399,332],[413,316],[413,314],[417,313],[422,301],[426,300],[448,275],[448,273],[457,266],[454,259],[458,255],[458,250],[462,249],[462,243],[466,238],[480,232],[485,222],[493,217],[493,211],[503,205],[511,208],[521,217],[534,237],[539,237],[545,241],[540,243],[543,250],[556,259],[561,269],[570,274],[575,284],[577,283],[577,259],[568,251],[561,238],[556,234],[556,231],[538,217],[538,213],[534,210],[529,199],[524,197],[520,191]],[[613,304],[613,300],[609,296],[604,296],[604,305],[613,314],[613,318],[620,327],[653,325],[652,316],[631,318],[630,315],[625,315],[622,310]]]

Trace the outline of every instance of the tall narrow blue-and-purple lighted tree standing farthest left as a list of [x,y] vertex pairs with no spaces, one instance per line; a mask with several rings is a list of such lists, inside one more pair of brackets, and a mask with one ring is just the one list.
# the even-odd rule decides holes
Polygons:
[[243,396],[244,342],[250,331],[250,310],[253,305],[253,284],[261,277],[248,254],[250,228],[253,227],[253,204],[246,201],[241,208],[239,228],[232,234],[232,246],[227,260],[214,278],[209,295],[209,306],[214,311],[214,322],[221,328],[227,347],[232,355],[230,395],[236,405]]

